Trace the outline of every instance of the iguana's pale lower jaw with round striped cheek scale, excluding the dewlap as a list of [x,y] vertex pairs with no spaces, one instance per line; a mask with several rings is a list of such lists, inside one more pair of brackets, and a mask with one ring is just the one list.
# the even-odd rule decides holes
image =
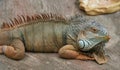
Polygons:
[[89,51],[101,42],[103,43],[108,42],[109,39],[110,39],[109,36],[87,38],[87,39],[80,39],[78,43],[79,43],[80,50]]

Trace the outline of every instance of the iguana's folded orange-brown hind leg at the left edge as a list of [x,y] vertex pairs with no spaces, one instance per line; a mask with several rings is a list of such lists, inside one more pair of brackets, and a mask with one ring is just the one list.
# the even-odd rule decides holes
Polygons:
[[22,59],[24,58],[25,48],[21,40],[15,39],[11,42],[10,46],[1,46],[0,52],[4,53],[7,57],[12,59]]

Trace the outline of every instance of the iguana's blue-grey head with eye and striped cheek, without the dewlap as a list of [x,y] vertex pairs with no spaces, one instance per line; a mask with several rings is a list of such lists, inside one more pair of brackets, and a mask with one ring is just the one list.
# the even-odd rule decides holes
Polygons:
[[99,43],[106,43],[110,37],[104,26],[96,21],[85,23],[84,30],[78,36],[78,44],[82,51],[89,51]]

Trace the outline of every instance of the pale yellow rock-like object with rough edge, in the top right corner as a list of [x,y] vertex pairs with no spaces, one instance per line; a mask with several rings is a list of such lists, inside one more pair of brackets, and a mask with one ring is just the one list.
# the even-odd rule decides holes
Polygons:
[[88,15],[113,13],[120,10],[120,0],[79,0],[80,8]]

